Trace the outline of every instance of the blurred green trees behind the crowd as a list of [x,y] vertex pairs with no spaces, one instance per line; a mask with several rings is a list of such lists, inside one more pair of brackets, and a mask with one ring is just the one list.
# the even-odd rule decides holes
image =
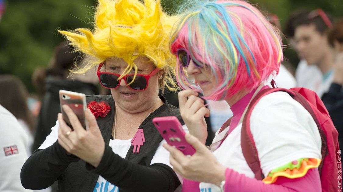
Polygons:
[[[176,0],[162,0],[168,11]],[[266,14],[274,13],[284,26],[295,9],[322,8],[335,17],[343,16],[343,0],[251,0]],[[31,75],[48,64],[55,46],[63,40],[57,29],[92,27],[96,0],[7,0],[0,22],[0,74],[18,75],[34,92]],[[294,56],[292,51],[286,57]],[[0,90],[1,91],[1,90]]]

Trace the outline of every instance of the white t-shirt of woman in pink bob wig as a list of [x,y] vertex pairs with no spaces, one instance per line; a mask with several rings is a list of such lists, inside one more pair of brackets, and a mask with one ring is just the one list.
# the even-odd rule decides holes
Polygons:
[[[226,137],[213,154],[225,167],[247,177],[255,175],[249,168],[241,149],[242,123]],[[223,138],[227,127],[213,143]],[[276,92],[264,96],[252,110],[250,130],[256,144],[264,175],[299,158],[321,159],[321,138],[310,113],[287,93]],[[209,183],[200,183],[200,191],[220,192]]]

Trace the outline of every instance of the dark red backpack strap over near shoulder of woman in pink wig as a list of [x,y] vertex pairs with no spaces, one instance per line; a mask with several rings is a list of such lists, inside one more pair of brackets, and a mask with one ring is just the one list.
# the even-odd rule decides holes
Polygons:
[[[255,178],[257,180],[264,179],[264,175],[261,169],[261,163],[258,157],[256,145],[250,131],[250,115],[251,115],[252,109],[255,107],[255,105],[263,96],[268,95],[273,92],[285,91],[285,90],[287,89],[267,88],[267,89],[262,90],[260,93],[258,93],[255,96],[255,98],[252,99],[248,107],[247,113],[245,114],[244,119],[243,119],[241,135],[240,135],[240,143],[242,147],[242,152],[243,152],[245,160],[247,161],[248,166],[250,167],[252,172],[255,174]],[[287,90],[287,93],[288,93],[288,90]]]

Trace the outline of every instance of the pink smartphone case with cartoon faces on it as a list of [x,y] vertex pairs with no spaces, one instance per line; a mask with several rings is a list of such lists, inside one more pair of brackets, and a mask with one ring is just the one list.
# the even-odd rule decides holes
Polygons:
[[195,149],[187,143],[185,139],[186,132],[177,117],[155,117],[152,122],[169,145],[175,146],[185,155],[195,153]]

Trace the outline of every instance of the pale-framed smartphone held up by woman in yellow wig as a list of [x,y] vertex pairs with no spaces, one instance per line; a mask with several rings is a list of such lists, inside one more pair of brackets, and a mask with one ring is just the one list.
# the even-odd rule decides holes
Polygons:
[[65,90],[60,90],[58,93],[60,97],[60,106],[63,120],[68,124],[69,127],[71,127],[69,118],[62,108],[62,105],[68,105],[74,111],[75,115],[79,118],[82,127],[85,130],[88,130],[88,121],[86,120],[85,116],[85,110],[87,107],[86,95],[83,93],[76,93]]

